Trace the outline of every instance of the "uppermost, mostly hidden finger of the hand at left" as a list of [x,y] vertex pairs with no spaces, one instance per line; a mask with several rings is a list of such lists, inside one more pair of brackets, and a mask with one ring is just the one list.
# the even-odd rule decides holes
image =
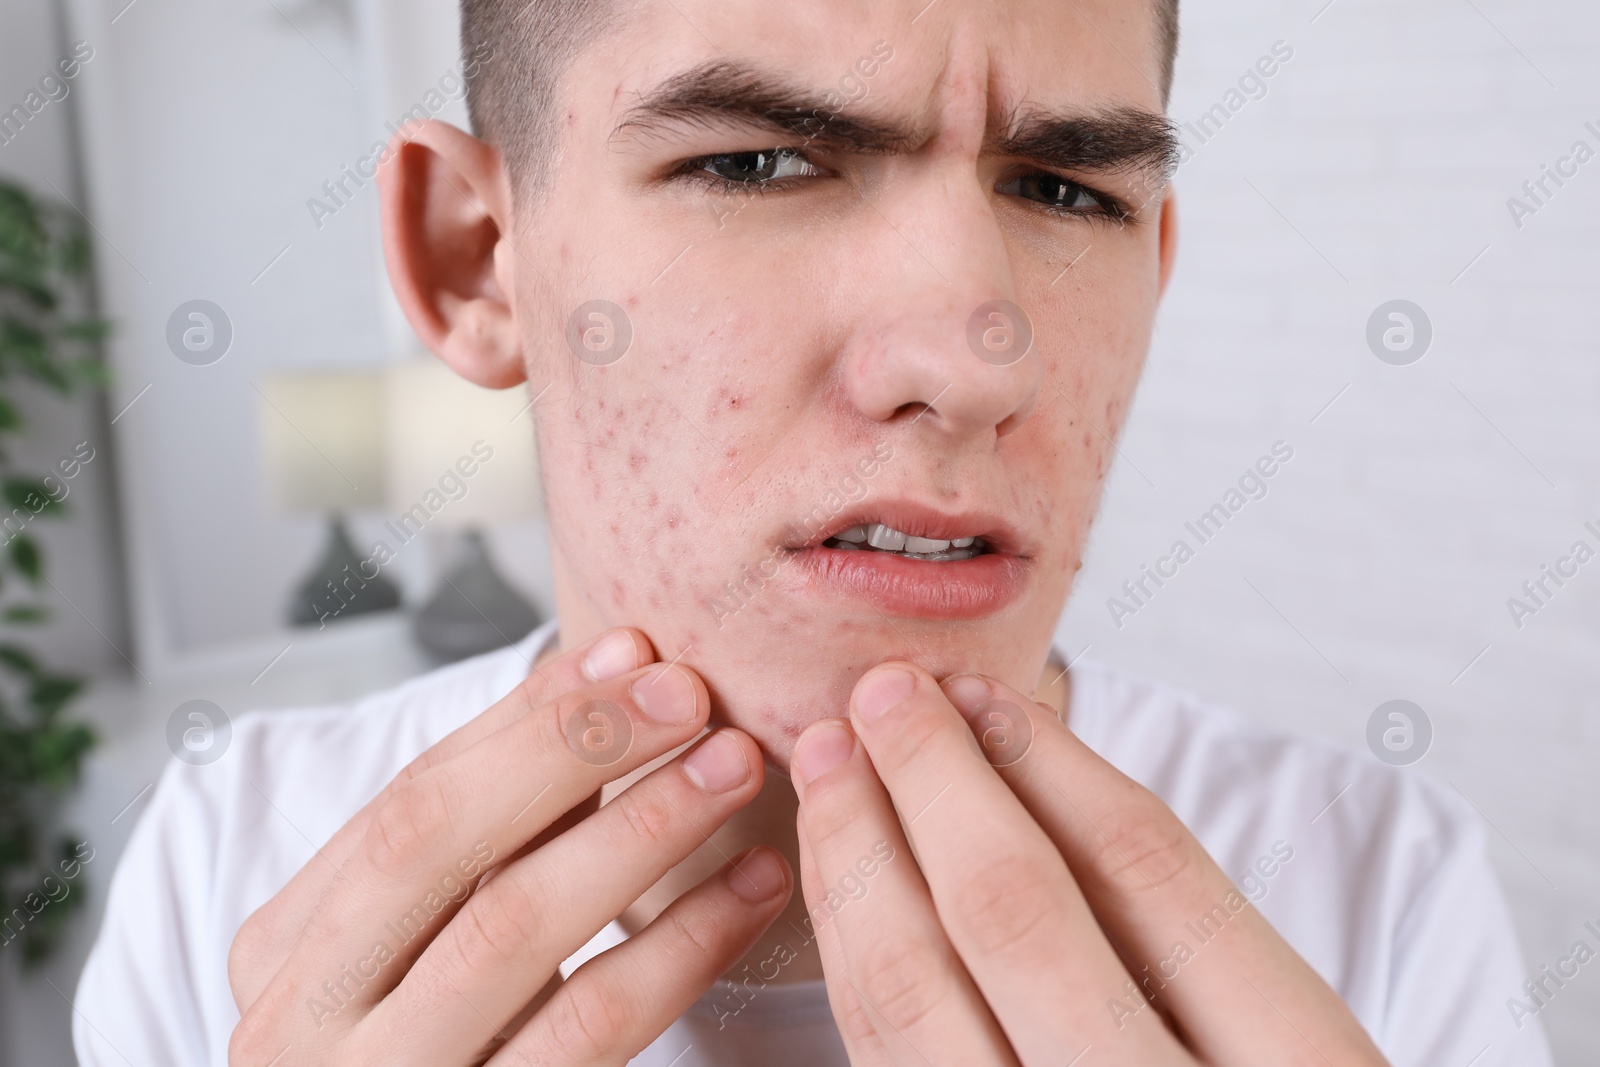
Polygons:
[[515,689],[406,765],[378,797],[357,811],[326,845],[317,849],[317,856],[301,867],[283,889],[245,920],[229,953],[229,974],[240,1011],[245,1011],[259,997],[272,974],[288,960],[290,950],[299,939],[322,894],[360,846],[373,813],[387,803],[395,792],[547,701],[597,681],[619,678],[654,661],[656,651],[643,632],[635,629],[606,630],[594,640],[533,667]]

